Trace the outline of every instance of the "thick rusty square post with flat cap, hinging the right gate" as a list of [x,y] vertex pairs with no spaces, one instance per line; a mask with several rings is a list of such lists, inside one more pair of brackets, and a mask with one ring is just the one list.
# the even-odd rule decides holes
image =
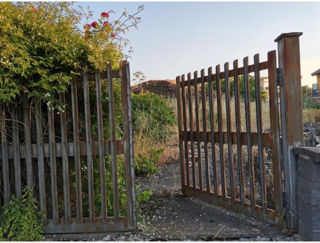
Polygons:
[[278,42],[282,160],[284,174],[285,222],[298,232],[298,162],[293,148],[303,146],[301,70],[299,37],[302,33],[281,34]]

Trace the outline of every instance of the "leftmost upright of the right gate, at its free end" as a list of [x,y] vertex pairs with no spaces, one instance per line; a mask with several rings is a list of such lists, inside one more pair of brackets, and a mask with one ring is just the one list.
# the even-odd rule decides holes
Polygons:
[[[183,151],[183,135],[182,135],[182,107],[181,107],[181,77],[176,78],[176,88],[177,88],[177,106],[178,106],[178,132],[179,132],[179,151],[180,151],[180,172],[181,172],[181,188],[186,184],[185,177],[185,158]],[[183,86],[184,87],[184,86]]]

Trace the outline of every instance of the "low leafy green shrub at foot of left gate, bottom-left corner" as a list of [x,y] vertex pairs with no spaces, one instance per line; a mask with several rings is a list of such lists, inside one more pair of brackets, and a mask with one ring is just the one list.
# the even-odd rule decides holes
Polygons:
[[42,215],[30,189],[23,190],[21,199],[13,195],[2,207],[0,241],[42,241]]

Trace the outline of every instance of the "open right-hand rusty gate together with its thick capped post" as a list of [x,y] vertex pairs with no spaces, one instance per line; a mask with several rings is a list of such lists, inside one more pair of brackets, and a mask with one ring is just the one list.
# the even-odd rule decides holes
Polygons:
[[[286,214],[294,228],[297,171],[289,157],[290,146],[303,144],[300,35],[275,40],[278,69],[273,50],[264,62],[256,54],[252,65],[245,57],[242,67],[235,60],[223,72],[218,65],[176,78],[183,194],[278,226]],[[269,102],[261,97],[261,73]]]

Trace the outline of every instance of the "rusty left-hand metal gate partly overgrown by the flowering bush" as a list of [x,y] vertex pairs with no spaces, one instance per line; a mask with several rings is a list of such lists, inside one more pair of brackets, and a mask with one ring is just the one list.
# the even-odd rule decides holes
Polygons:
[[[120,78],[121,85],[122,136],[119,140],[115,132],[114,78]],[[108,82],[108,94],[105,93],[106,90],[101,90],[102,81]],[[77,88],[78,86],[83,88]],[[95,102],[91,101],[91,104],[90,90],[93,90],[96,96]],[[53,113],[52,110],[47,109],[46,104],[43,104],[40,99],[37,99],[35,104],[30,104],[27,99],[24,99],[20,107],[12,105],[2,109],[5,113],[4,117],[9,118],[3,122],[2,129],[6,130],[2,132],[0,144],[3,179],[3,183],[0,183],[0,204],[7,204],[12,192],[20,198],[22,188],[27,185],[33,188],[34,196],[40,201],[40,210],[45,212],[44,233],[135,229],[137,223],[129,63],[123,61],[120,64],[120,70],[112,70],[109,64],[107,71],[85,73],[72,81],[68,91],[71,95],[70,93],[60,94],[60,102],[65,104],[68,95],[70,106],[62,109],[58,115],[57,112]],[[84,106],[84,114],[79,114],[79,97]],[[108,108],[102,108],[102,99],[108,99],[109,118],[103,118],[102,109]],[[95,135],[98,138],[97,141],[92,140],[91,116],[93,114],[90,113],[92,107],[96,110],[94,116],[97,118],[97,123],[92,125],[97,127],[98,134]],[[69,116],[67,116],[68,109]],[[81,109],[83,110],[83,107]],[[55,120],[60,120],[58,127]],[[104,136],[105,120],[109,122],[109,140]],[[33,121],[35,121],[34,124],[32,124]],[[72,130],[71,136],[68,136],[70,134],[67,134],[67,128]],[[80,129],[82,134],[85,134],[82,138],[80,138]],[[36,134],[33,140],[32,132]],[[117,166],[119,166],[121,154],[123,154],[121,158],[125,174],[124,199],[119,198],[118,194],[120,171]],[[109,172],[111,172],[112,187],[106,185],[106,155],[111,156]],[[72,163],[69,162],[71,160]],[[96,172],[99,174],[98,178],[93,176],[95,163],[98,163]],[[57,173],[60,166],[61,174]],[[70,166],[73,166],[74,174],[70,174]],[[75,178],[74,185],[71,185],[71,177]],[[84,177],[86,185],[82,184]],[[99,185],[98,191],[94,191],[94,183]],[[59,195],[63,200],[59,200],[58,192],[61,192]],[[112,192],[113,195],[111,202],[107,202],[108,192]],[[73,202],[71,202],[71,194],[74,195]],[[82,202],[84,197],[87,199],[85,203]],[[124,215],[120,213],[120,200],[124,200],[124,203],[126,200],[126,212],[122,213]],[[113,207],[111,216],[107,213],[109,204]],[[76,208],[75,212],[72,212],[71,207]],[[87,208],[87,215],[83,213],[84,207]]]

